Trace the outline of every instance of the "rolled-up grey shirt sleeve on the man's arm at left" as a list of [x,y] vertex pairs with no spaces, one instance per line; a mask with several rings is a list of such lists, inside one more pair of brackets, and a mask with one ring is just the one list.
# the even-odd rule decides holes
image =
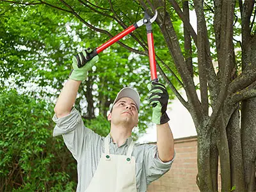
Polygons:
[[57,118],[56,114],[54,114],[52,120],[56,123],[53,136],[63,136],[65,145],[76,160],[86,151],[91,141],[100,138],[91,129],[84,127],[81,115],[75,108],[72,109],[70,114],[61,118]]

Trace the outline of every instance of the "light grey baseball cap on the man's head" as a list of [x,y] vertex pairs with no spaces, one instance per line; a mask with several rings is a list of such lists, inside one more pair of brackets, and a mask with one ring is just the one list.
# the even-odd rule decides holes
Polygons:
[[113,102],[113,105],[111,106],[110,112],[112,111],[115,103],[122,97],[129,97],[132,100],[134,100],[138,111],[140,110],[140,95],[139,95],[139,93],[136,90],[134,90],[134,88],[125,87],[125,88],[122,88],[122,90],[120,90],[120,92],[117,94],[116,99]]

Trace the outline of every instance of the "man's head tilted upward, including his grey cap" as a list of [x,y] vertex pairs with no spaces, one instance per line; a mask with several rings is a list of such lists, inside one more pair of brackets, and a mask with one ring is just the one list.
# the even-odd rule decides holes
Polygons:
[[123,88],[117,94],[111,107],[108,120],[115,127],[122,126],[131,129],[138,125],[138,111],[140,109],[140,95],[132,88]]

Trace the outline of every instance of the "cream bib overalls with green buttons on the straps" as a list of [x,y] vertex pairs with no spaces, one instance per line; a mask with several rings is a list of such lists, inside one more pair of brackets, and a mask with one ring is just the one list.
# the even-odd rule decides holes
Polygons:
[[109,154],[109,139],[105,138],[105,153],[85,192],[136,192],[135,157],[131,156],[134,142],[127,155]]

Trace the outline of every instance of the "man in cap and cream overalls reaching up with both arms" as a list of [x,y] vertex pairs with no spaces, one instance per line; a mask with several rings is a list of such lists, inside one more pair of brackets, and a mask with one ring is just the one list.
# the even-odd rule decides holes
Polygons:
[[134,145],[132,141],[131,132],[138,125],[140,110],[140,96],[132,88],[124,88],[118,93],[108,115],[110,133],[106,138],[99,136],[84,127],[81,115],[73,108],[81,81],[99,59],[95,56],[78,68],[90,51],[85,50],[73,58],[74,70],[54,108],[53,136],[63,136],[77,161],[77,191],[147,191],[150,182],[170,170],[174,158],[173,136],[166,115],[169,98],[166,88],[154,82],[148,86],[152,120],[157,124],[157,145]]

